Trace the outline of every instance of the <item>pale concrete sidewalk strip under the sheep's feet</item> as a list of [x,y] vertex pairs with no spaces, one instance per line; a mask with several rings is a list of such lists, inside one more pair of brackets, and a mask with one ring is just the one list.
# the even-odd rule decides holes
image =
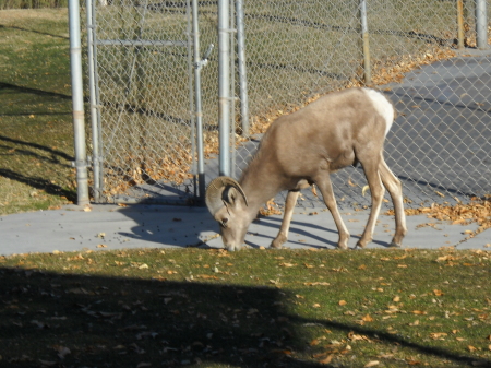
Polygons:
[[[361,235],[369,212],[342,212],[351,234],[350,247]],[[282,216],[254,222],[246,237],[250,247],[268,247],[275,238]],[[491,229],[469,238],[477,224],[451,225],[428,218],[408,216],[404,248],[491,250]],[[73,205],[56,211],[40,211],[0,216],[0,254],[29,252],[101,250],[122,248],[221,248],[218,225],[205,207],[160,205],[92,205],[86,212]],[[385,248],[394,232],[393,216],[381,215],[374,241],[369,248]],[[325,209],[298,207],[291,222],[288,248],[334,249],[337,230]]]

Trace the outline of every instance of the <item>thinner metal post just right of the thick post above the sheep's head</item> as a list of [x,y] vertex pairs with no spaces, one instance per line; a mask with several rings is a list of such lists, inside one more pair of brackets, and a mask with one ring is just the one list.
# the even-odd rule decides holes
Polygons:
[[246,32],[243,27],[243,0],[236,0],[237,57],[239,61],[239,97],[242,118],[242,135],[249,136],[249,96],[246,67]]

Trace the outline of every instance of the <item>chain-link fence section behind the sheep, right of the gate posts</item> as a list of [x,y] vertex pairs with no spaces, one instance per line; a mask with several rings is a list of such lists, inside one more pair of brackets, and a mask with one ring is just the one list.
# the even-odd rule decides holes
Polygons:
[[[246,1],[252,133],[319,95],[364,85],[370,72],[369,84],[399,112],[385,156],[407,204],[491,193],[491,54],[476,48],[477,2],[368,0],[368,45],[362,3]],[[241,163],[251,152],[237,155]],[[333,182],[342,204],[369,204],[360,167],[336,173]]]

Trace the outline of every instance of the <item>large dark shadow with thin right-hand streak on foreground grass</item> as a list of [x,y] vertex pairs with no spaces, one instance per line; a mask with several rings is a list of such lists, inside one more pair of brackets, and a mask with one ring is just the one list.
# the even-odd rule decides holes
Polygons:
[[[115,260],[108,269],[130,263]],[[294,296],[278,288],[7,268],[0,276],[1,354],[15,367],[326,367],[299,358],[310,356],[306,329],[312,324],[460,365],[476,360],[382,331],[292,314]]]

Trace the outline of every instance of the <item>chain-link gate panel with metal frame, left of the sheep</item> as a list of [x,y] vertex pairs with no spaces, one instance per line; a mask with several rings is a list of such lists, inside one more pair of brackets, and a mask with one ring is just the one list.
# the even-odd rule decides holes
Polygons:
[[190,0],[87,0],[86,12],[95,202],[193,201]]

